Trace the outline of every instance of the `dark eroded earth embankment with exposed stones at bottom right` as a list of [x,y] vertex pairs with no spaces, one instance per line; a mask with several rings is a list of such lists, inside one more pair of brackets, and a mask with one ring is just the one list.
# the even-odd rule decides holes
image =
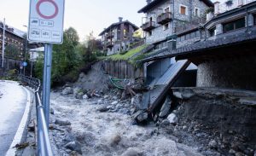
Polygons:
[[[186,144],[189,134],[224,155],[252,155],[256,149],[256,93],[211,88],[172,89],[178,103],[177,136]],[[210,154],[207,152],[205,154]]]

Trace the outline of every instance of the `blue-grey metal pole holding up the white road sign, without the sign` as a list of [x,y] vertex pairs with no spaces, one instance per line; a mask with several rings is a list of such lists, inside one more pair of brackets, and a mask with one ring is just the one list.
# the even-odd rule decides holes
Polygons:
[[49,129],[49,95],[50,95],[50,78],[51,78],[51,64],[52,64],[52,47],[53,44],[44,44],[44,84],[43,84],[43,105],[44,115]]

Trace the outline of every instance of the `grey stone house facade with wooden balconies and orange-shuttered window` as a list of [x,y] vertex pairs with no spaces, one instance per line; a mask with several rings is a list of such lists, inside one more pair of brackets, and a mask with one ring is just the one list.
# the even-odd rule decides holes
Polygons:
[[[138,13],[144,13],[143,31],[147,43],[160,43],[188,25],[198,26],[206,19],[206,10],[213,7],[210,0],[147,0]],[[191,25],[193,26],[193,25]]]

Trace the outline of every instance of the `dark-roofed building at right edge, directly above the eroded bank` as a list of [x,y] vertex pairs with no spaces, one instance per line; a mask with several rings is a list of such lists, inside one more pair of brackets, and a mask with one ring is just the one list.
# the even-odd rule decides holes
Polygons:
[[[187,59],[198,67],[197,87],[256,90],[256,1],[233,0],[230,5],[217,2],[209,14],[212,18],[197,28],[199,35],[190,38],[190,43],[174,49],[170,46],[143,61]],[[178,37],[177,45],[189,33]]]

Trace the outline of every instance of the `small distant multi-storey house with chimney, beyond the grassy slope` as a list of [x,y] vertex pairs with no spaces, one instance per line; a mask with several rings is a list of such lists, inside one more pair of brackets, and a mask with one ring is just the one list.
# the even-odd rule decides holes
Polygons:
[[113,55],[130,49],[131,43],[138,40],[132,37],[137,29],[138,27],[129,20],[123,21],[123,18],[119,17],[119,22],[108,26],[99,34],[102,37],[104,52]]

